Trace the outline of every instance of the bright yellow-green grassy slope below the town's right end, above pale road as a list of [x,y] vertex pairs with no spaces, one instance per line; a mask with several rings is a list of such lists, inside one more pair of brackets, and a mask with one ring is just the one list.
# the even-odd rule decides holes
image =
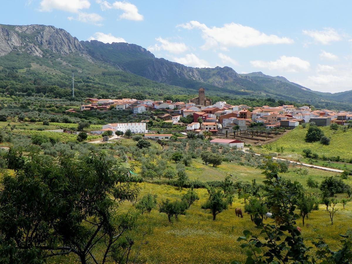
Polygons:
[[[275,142],[263,146],[266,153],[269,152],[282,152],[283,156],[299,157],[303,154],[304,149],[311,149],[319,156],[325,155],[326,157],[340,156],[342,159],[350,160],[352,158],[352,129],[343,132],[341,129],[338,131],[331,130],[330,127],[320,127],[325,136],[331,139],[330,145],[322,145],[319,142],[307,143],[304,138],[307,134],[307,128],[299,126]],[[295,154],[297,153],[298,156]]]

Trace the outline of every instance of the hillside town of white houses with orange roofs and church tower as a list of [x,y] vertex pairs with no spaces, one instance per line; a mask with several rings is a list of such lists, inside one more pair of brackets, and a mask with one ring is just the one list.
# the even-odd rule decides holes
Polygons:
[[[188,102],[153,101],[136,99],[96,99],[88,98],[89,104],[82,105],[81,111],[102,110],[111,108],[117,110],[132,109],[133,114],[143,112],[161,113],[153,116],[165,123],[185,126],[185,132],[210,133],[212,135],[226,134],[233,131],[247,131],[249,127],[258,126],[265,129],[288,128],[293,129],[303,123],[314,122],[317,126],[329,126],[331,123],[347,125],[352,120],[352,112],[334,112],[328,109],[313,110],[309,106],[295,107],[294,105],[282,105],[270,107],[267,105],[251,108],[247,105],[229,105],[226,101],[212,103],[205,96],[205,89],[199,88],[199,96]],[[184,118],[191,122],[184,122]],[[146,133],[145,123],[106,124],[102,130],[122,131],[131,130],[133,133]]]

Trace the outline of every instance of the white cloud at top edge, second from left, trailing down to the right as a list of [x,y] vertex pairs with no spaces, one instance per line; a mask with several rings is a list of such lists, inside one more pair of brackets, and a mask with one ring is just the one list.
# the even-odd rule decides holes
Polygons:
[[98,4],[100,4],[101,10],[105,11],[108,9],[118,9],[124,11],[120,15],[120,19],[128,19],[128,20],[134,20],[134,21],[142,21],[143,20],[143,15],[138,13],[138,8],[137,6],[129,3],[129,2],[121,2],[121,1],[116,1],[113,4],[110,4],[109,2],[105,0],[96,0]]

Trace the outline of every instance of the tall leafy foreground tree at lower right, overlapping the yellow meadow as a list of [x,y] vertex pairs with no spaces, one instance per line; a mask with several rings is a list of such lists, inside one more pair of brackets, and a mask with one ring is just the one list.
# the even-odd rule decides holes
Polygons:
[[300,217],[295,214],[296,197],[302,187],[297,182],[291,183],[279,177],[279,165],[269,159],[262,168],[265,176],[265,205],[271,208],[275,224],[264,224],[261,218],[254,219],[259,228],[258,233],[264,237],[253,235],[248,230],[243,231],[244,235],[238,241],[244,241],[241,247],[248,248],[246,263],[310,263],[308,248],[296,226],[296,220]]

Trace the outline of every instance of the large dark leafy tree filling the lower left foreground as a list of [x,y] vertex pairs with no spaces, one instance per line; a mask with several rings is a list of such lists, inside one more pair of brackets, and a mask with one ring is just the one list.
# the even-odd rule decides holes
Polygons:
[[[1,175],[2,259],[43,263],[50,256],[76,254],[83,264],[89,259],[128,262],[134,242],[122,242],[138,214],[118,208],[136,199],[139,189],[124,182],[127,175],[96,153],[59,162],[37,153],[28,156],[14,176]],[[106,246],[98,250],[100,243]]]

